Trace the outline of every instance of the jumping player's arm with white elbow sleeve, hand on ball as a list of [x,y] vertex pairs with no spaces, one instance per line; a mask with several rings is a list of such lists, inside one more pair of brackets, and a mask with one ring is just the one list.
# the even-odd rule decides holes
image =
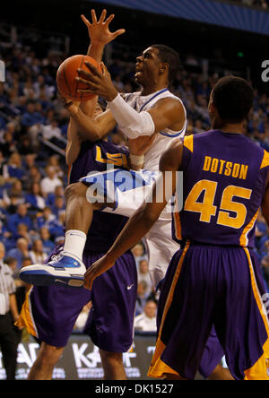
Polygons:
[[141,135],[151,136],[165,128],[180,131],[185,125],[185,110],[178,99],[160,99],[152,109],[137,112],[119,95],[103,63],[101,63],[102,73],[87,62],[85,65],[90,72],[78,69],[79,76],[76,79],[87,89],[79,90],[79,92],[95,93],[106,99],[117,124],[128,138],[134,139]]

